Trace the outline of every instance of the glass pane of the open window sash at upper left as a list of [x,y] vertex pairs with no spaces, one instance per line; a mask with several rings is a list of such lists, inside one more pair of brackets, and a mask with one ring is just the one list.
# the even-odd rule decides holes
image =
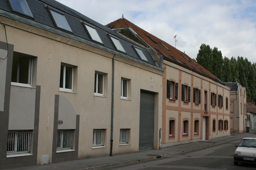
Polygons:
[[18,83],[29,84],[29,58],[20,59]]

